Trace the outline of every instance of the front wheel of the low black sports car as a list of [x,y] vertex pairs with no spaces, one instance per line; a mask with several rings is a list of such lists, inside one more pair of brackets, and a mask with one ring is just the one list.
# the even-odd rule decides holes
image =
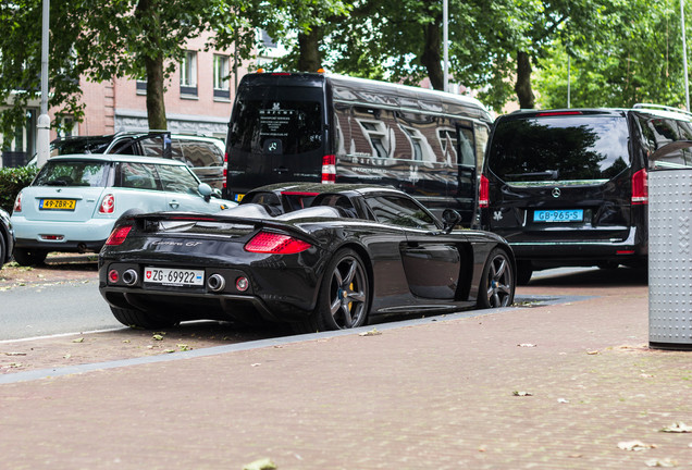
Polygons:
[[479,285],[478,307],[509,307],[515,301],[515,276],[507,251],[495,248],[490,252]]

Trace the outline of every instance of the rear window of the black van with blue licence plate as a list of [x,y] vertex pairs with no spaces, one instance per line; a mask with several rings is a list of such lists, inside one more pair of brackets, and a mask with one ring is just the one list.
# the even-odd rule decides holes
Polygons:
[[503,121],[490,170],[512,184],[605,182],[629,166],[625,116],[569,115]]

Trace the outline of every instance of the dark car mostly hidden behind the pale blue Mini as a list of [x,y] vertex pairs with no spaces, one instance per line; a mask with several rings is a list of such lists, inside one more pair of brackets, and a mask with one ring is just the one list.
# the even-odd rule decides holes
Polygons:
[[[50,156],[74,153],[125,153],[173,158],[187,163],[212,188],[221,190],[225,181],[223,159],[226,145],[217,137],[168,131],[120,132],[101,136],[72,136],[50,143]],[[35,162],[32,160],[32,162]],[[29,162],[29,164],[32,163]]]

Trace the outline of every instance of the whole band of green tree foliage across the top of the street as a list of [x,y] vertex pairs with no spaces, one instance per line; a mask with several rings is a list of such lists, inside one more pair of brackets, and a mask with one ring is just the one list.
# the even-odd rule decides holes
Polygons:
[[[683,102],[680,12],[672,0],[448,0],[454,83],[501,111]],[[41,0],[0,2],[0,132],[23,124],[40,89]],[[254,28],[289,53],[274,66],[443,87],[440,0],[74,0],[51,2],[50,107],[79,119],[79,77],[147,77],[152,128],[186,41],[213,33],[242,58]],[[688,35],[689,36],[689,35]],[[18,47],[21,45],[21,47]],[[568,59],[569,58],[569,59]]]

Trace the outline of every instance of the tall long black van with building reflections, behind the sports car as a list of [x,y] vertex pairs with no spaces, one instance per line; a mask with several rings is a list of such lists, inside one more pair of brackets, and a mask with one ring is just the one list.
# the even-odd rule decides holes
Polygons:
[[[270,183],[390,185],[470,224],[491,116],[475,99],[338,75],[256,73],[238,87],[226,198]],[[478,169],[478,170],[477,170]]]

